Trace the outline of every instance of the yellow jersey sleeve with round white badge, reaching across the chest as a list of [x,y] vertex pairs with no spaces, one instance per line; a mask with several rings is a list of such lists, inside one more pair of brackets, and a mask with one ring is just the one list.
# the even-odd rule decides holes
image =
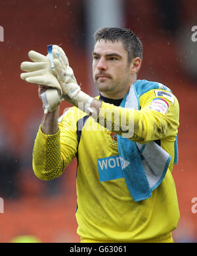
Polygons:
[[97,121],[106,129],[141,144],[177,134],[179,102],[171,92],[150,90],[139,102],[141,110],[102,102]]

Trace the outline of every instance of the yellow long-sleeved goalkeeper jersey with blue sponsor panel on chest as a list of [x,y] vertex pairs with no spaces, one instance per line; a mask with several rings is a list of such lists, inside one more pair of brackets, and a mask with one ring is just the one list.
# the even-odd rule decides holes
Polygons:
[[156,141],[171,156],[164,180],[144,201],[133,201],[127,189],[114,125],[110,131],[73,107],[60,117],[55,135],[44,135],[39,128],[33,148],[33,170],[39,179],[61,176],[77,157],[77,234],[85,241],[148,241],[169,235],[177,226],[179,206],[171,172],[179,103],[170,92],[159,92],[143,94],[139,98],[141,110],[121,108],[120,102],[101,98],[99,118],[106,118],[106,112],[131,115],[131,140],[142,144]]

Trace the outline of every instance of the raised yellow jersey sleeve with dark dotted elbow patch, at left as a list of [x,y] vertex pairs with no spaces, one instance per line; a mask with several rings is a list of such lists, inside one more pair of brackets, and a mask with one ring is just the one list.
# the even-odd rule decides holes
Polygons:
[[63,174],[77,150],[74,112],[68,110],[60,117],[58,132],[45,135],[39,127],[33,146],[33,171],[43,180],[51,180]]

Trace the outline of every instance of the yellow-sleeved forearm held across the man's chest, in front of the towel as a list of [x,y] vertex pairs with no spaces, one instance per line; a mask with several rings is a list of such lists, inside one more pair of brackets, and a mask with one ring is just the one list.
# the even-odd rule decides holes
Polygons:
[[167,122],[156,114],[142,110],[130,110],[94,100],[91,108],[97,112],[97,122],[114,133],[132,141],[146,143],[165,137]]

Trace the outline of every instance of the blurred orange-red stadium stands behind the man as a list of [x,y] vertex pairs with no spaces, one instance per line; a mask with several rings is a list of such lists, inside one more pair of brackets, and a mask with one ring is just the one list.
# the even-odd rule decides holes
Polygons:
[[[75,218],[76,160],[62,177],[49,185],[34,176],[32,143],[43,110],[37,86],[20,79],[20,63],[28,61],[31,49],[46,55],[47,45],[61,44],[77,82],[85,92],[94,92],[89,67],[93,49],[87,49],[85,44],[86,24],[90,22],[85,2],[7,0],[0,3],[0,26],[4,28],[4,42],[0,42],[0,126],[4,127],[4,136],[0,139],[8,152],[7,161],[12,157],[12,166],[15,165],[12,178],[8,172],[5,176],[0,174],[3,184],[0,197],[5,204],[4,214],[0,214],[1,243],[20,235],[33,235],[44,243],[79,241]],[[179,164],[174,166],[173,177],[181,219],[173,235],[177,242],[196,242],[197,213],[192,212],[192,199],[197,197],[197,75],[188,69],[193,61],[197,70],[197,57],[195,62],[195,54],[190,55],[190,46],[194,51],[197,46],[190,39],[192,26],[197,26],[196,1],[166,1],[171,9],[160,2],[121,1],[125,27],[131,28],[144,44],[139,79],[162,82],[179,100]],[[61,113],[68,106],[63,102]],[[10,185],[12,191],[8,189]]]

